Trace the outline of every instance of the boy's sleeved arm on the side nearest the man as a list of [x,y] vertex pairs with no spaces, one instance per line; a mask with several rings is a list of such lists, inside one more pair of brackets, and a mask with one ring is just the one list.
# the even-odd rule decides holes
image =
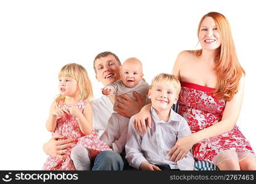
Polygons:
[[142,153],[142,136],[138,134],[134,125],[132,125],[132,120],[134,117],[130,118],[126,142],[126,159],[130,166],[139,169],[140,164],[147,162]]

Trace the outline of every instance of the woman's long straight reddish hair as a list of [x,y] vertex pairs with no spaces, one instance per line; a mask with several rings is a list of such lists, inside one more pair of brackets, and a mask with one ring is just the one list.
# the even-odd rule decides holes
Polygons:
[[[236,48],[231,34],[230,23],[226,17],[218,12],[209,12],[201,18],[198,25],[198,37],[201,30],[202,21],[206,17],[211,17],[217,26],[221,37],[221,45],[218,48],[218,54],[215,57],[214,70],[217,73],[217,86],[212,94],[217,99],[230,101],[234,94],[238,92],[239,80],[245,74],[244,69],[238,61]],[[201,56],[202,50],[196,51],[196,56]]]

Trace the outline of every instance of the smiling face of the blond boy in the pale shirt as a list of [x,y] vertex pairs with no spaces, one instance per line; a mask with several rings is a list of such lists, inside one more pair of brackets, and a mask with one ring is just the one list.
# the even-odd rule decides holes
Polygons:
[[148,90],[148,98],[152,106],[157,110],[170,110],[178,100],[178,94],[174,86],[165,83],[154,83]]

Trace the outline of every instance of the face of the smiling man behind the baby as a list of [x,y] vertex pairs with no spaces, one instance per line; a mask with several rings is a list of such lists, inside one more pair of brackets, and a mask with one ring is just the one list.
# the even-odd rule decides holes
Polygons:
[[111,84],[120,79],[120,66],[113,55],[96,59],[94,67],[96,70],[96,78],[102,82],[103,85]]

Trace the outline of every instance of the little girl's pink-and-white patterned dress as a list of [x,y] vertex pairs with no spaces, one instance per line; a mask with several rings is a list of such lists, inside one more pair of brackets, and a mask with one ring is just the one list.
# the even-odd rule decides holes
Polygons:
[[[78,107],[78,109],[82,112],[84,110],[84,107],[86,107],[86,104],[87,102],[80,101],[76,103],[75,106]],[[66,104],[63,104],[63,102],[58,102],[57,106],[58,108],[63,109],[68,108]],[[111,150],[105,142],[97,139],[97,132],[95,130],[92,130],[92,133],[87,136],[82,134],[78,125],[78,120],[76,120],[73,115],[69,115],[68,113],[65,113],[62,118],[57,119],[57,127],[53,135],[56,133],[65,136],[63,139],[76,139],[77,144],[81,144],[82,146],[87,148],[87,150],[89,150],[91,159],[95,158],[101,151]],[[44,163],[44,167],[42,168],[42,170],[76,170],[74,168],[73,161],[70,158],[70,153],[74,146],[75,145],[68,148],[68,150],[66,151],[65,160],[49,156],[46,160],[46,163]]]

